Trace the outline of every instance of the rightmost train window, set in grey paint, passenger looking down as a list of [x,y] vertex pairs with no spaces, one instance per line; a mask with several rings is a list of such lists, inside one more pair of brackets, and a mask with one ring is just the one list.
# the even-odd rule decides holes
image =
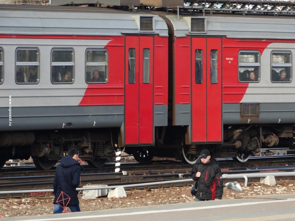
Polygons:
[[274,83],[290,83],[292,80],[291,52],[271,52],[271,81]]

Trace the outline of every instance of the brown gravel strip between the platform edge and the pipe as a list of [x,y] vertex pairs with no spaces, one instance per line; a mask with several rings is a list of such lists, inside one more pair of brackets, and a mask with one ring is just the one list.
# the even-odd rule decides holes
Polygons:
[[[236,193],[224,188],[222,199],[234,199],[244,196],[283,194],[295,192],[295,180],[277,180],[275,186],[249,182],[248,187],[241,183],[243,192]],[[173,203],[194,202],[190,194],[191,187],[170,187],[163,189],[130,190],[126,191],[127,197],[110,198],[99,197],[96,199],[81,199],[81,211],[106,210],[114,208],[140,207],[149,205],[162,205]],[[295,196],[295,195],[294,195]],[[53,212],[53,199],[50,198],[25,198],[25,199],[0,199],[0,215],[3,217],[45,215]]]

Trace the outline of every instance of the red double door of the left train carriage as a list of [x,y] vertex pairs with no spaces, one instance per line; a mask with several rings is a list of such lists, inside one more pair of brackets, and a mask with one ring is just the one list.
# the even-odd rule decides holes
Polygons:
[[153,144],[153,37],[125,37],[124,144]]

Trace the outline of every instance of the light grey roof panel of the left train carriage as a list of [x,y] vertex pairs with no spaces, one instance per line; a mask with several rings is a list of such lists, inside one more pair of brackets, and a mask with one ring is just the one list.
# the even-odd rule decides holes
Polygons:
[[[1,34],[55,34],[55,35],[99,35],[121,36],[123,33],[139,34],[140,16],[154,17],[154,30],[159,36],[168,36],[168,28],[163,19],[155,14],[127,13],[107,9],[63,10],[63,7],[25,7],[0,6]],[[38,11],[40,10],[40,11]],[[147,33],[147,32],[144,32]]]

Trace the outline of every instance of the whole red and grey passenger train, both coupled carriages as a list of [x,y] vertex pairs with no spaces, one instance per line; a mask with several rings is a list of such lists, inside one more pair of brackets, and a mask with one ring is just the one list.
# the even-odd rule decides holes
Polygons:
[[291,17],[0,7],[0,153],[193,164],[294,149]]

